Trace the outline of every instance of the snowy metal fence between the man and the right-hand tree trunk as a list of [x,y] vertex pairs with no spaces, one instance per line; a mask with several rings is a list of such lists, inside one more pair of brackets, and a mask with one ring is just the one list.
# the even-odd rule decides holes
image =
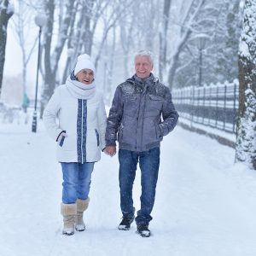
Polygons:
[[232,83],[172,90],[172,99],[180,116],[191,123],[236,133],[238,89],[235,79]]

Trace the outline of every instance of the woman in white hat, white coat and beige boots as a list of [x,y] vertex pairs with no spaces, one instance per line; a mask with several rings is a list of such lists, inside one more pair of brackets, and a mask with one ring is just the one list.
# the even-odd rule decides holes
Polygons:
[[[89,205],[94,163],[105,148],[106,111],[94,81],[89,55],[79,55],[66,84],[56,88],[44,110],[44,125],[57,143],[63,174],[61,214],[63,235],[85,230],[83,213]],[[56,123],[58,119],[58,123]]]

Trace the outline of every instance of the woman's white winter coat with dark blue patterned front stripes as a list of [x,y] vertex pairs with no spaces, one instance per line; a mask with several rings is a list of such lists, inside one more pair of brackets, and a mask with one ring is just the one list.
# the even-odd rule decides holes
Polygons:
[[105,148],[107,116],[102,95],[77,99],[65,84],[59,86],[44,109],[44,125],[49,136],[57,141],[61,131],[66,131],[62,146],[57,144],[60,162],[96,162]]

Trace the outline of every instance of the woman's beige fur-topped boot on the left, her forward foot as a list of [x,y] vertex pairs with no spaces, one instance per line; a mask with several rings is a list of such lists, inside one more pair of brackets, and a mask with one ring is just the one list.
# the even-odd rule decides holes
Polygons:
[[62,234],[71,236],[74,234],[74,224],[77,214],[76,204],[63,204],[61,203],[61,214],[63,216],[63,230]]

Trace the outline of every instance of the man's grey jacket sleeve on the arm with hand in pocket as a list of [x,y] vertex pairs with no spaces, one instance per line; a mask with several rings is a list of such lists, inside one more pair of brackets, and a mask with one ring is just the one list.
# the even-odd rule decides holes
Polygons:
[[162,108],[163,122],[160,123],[161,136],[166,136],[177,125],[178,113],[172,103],[172,95],[166,87],[166,98]]

